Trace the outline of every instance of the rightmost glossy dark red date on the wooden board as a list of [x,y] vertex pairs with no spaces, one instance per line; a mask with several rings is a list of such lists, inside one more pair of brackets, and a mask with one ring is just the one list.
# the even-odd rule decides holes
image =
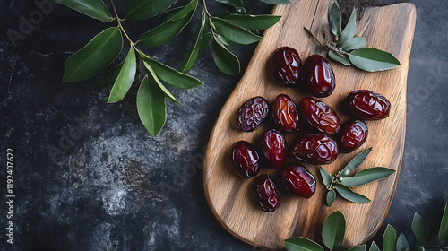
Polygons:
[[389,117],[391,111],[391,102],[374,91],[351,91],[346,101],[350,111],[362,119],[383,119]]

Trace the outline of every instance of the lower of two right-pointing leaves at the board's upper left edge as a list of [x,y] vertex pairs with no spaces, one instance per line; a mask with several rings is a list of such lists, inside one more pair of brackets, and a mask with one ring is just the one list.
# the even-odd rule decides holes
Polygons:
[[248,45],[262,39],[262,37],[255,35],[250,30],[225,22],[219,18],[212,17],[211,20],[216,30],[218,30],[221,35],[237,44]]

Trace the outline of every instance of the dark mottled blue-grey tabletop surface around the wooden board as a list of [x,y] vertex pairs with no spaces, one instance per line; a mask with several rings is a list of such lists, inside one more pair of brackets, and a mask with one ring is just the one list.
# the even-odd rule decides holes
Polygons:
[[[413,212],[437,220],[448,201],[448,2],[410,2],[417,6],[418,20],[405,151],[391,211],[380,230],[390,223],[409,238]],[[173,90],[182,105],[168,105],[168,123],[152,138],[139,121],[135,88],[125,100],[108,105],[99,78],[61,81],[65,59],[108,25],[55,5],[12,46],[6,30],[19,30],[21,15],[28,18],[37,9],[31,1],[0,0],[0,194],[5,201],[9,147],[14,147],[16,194],[14,245],[6,243],[7,207],[1,203],[0,250],[254,250],[214,219],[202,189],[202,149],[239,76],[221,74],[211,64],[211,51],[202,50],[190,74],[205,85]],[[268,13],[270,6],[251,1],[247,10]],[[177,39],[149,54],[178,67],[197,18]],[[137,38],[153,23],[125,25]],[[254,46],[232,49],[246,67]],[[55,148],[52,158],[48,150]],[[174,190],[164,193],[163,187]]]

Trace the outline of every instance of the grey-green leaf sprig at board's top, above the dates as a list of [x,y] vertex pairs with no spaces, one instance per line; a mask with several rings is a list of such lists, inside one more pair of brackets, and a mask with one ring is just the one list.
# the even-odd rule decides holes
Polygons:
[[357,10],[353,9],[349,22],[342,30],[342,15],[335,1],[329,13],[334,41],[327,45],[328,56],[343,65],[354,65],[366,72],[389,70],[400,65],[400,61],[389,52],[377,48],[365,48],[366,38],[355,37]]

